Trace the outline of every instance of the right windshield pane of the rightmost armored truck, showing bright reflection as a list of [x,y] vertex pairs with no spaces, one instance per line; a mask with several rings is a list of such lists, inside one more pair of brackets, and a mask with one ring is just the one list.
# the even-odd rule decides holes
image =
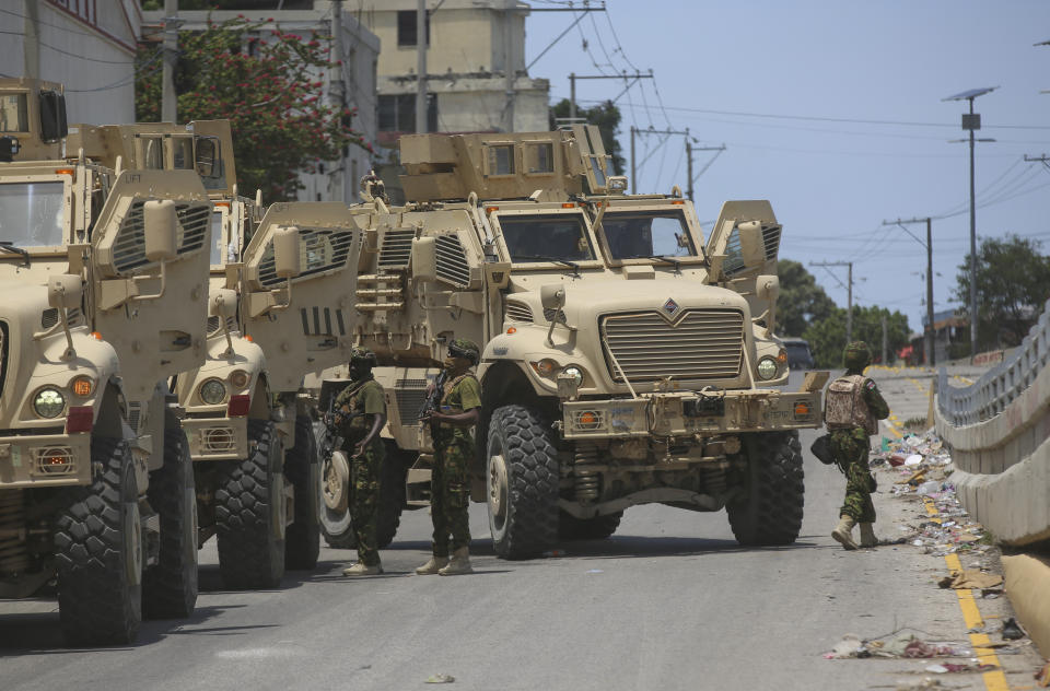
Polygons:
[[602,229],[614,259],[697,255],[680,211],[608,211]]

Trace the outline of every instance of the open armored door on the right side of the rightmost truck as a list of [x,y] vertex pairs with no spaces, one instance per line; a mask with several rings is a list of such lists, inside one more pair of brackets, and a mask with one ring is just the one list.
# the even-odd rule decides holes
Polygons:
[[722,204],[705,247],[711,282],[724,283],[744,295],[751,316],[768,327],[773,326],[779,292],[780,231],[769,201],[727,201]]

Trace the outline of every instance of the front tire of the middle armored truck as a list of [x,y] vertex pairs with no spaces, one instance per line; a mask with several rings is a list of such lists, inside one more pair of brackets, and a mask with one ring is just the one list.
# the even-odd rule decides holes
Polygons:
[[272,588],[284,575],[283,454],[273,423],[248,420],[248,445],[247,458],[219,473],[219,573],[228,588]]

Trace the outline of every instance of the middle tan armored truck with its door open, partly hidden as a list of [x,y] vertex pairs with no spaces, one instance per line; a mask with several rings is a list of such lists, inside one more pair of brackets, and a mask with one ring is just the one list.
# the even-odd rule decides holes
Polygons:
[[175,385],[196,461],[200,541],[218,536],[226,587],[273,587],[285,567],[313,569],[317,413],[301,385],[350,358],[361,239],[353,214],[303,202],[264,215],[258,199],[236,194],[226,121],[81,127],[77,137],[132,167],[210,162],[199,171],[215,204],[208,358]]

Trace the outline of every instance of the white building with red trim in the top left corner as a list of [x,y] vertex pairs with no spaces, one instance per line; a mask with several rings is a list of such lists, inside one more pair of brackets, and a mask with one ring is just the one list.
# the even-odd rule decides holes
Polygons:
[[70,122],[135,121],[138,0],[4,0],[0,74],[60,82]]

